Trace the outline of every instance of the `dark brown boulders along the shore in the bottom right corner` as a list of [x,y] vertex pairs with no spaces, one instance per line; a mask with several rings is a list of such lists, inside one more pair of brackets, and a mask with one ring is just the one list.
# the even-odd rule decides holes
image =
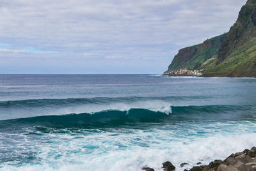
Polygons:
[[[209,165],[201,165],[200,162],[196,164],[197,166],[184,171],[256,171],[256,147],[231,154],[225,160],[214,160]],[[184,165],[188,165],[188,163],[181,163],[179,167],[182,168]],[[170,161],[163,163],[164,171],[175,169],[176,167]],[[142,170],[154,171],[154,168],[143,167]]]

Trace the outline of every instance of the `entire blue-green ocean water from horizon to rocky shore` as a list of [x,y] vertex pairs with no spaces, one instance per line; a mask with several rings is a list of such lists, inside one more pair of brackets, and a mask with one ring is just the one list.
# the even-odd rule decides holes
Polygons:
[[254,78],[0,75],[0,170],[184,170],[256,145],[255,116]]

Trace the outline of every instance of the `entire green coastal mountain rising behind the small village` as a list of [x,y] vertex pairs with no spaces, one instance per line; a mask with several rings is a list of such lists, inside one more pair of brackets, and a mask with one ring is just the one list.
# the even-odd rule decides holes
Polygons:
[[[204,70],[204,77],[256,77],[256,0],[248,0],[241,8],[227,34],[207,41],[179,50],[168,71],[188,68]],[[199,47],[204,47],[203,53]]]

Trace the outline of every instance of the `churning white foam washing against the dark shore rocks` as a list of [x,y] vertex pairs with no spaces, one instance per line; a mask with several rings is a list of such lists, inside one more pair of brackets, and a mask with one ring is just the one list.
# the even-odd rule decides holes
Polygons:
[[[241,126],[247,128],[248,123]],[[255,124],[251,123],[250,126]],[[237,130],[202,137],[195,135],[198,130],[202,128],[191,127],[191,131],[187,130],[188,135],[182,135],[186,131],[179,133],[179,129],[176,132],[170,129],[122,129],[77,136],[49,134],[47,136],[58,143],[35,144],[34,150],[38,151],[38,157],[41,158],[40,165],[28,164],[20,168],[5,165],[0,170],[134,171],[146,166],[162,170],[161,163],[171,161],[179,171],[191,168],[198,161],[209,164],[212,160],[223,160],[232,152],[251,148],[256,142],[255,133],[246,133],[244,130],[241,134]],[[93,145],[95,148],[88,152],[84,145]],[[180,168],[183,162],[190,165]]]

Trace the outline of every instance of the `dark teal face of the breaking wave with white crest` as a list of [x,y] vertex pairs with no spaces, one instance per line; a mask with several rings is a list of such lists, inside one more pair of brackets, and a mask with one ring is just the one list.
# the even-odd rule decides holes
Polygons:
[[138,123],[143,126],[143,123],[220,119],[223,114],[230,119],[230,117],[234,116],[230,114],[244,111],[248,108],[250,107],[228,105],[180,106],[172,107],[172,112],[169,114],[145,108],[131,108],[125,111],[103,110],[93,114],[41,115],[0,121],[0,129],[33,126],[49,128],[108,128],[120,125],[131,126]]

